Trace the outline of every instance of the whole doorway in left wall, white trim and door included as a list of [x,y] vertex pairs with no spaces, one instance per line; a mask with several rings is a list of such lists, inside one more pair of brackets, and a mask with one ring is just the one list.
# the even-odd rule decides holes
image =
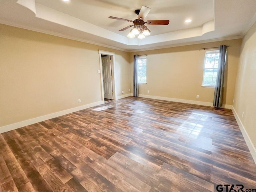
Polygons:
[[99,50],[102,79],[102,100],[114,100],[114,53]]

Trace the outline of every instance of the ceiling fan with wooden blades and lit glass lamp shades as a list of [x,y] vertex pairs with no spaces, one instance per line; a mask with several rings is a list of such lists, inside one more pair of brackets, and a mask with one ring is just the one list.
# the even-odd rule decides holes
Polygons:
[[147,28],[147,26],[145,26],[145,24],[148,24],[148,25],[168,25],[169,22],[170,22],[169,20],[147,20],[146,22],[144,22],[144,19],[146,18],[146,16],[150,12],[150,8],[146,7],[146,6],[142,6],[141,9],[137,9],[134,12],[138,15],[138,18],[135,19],[134,21],[129,20],[129,19],[112,17],[112,16],[110,16],[108,18],[132,22],[133,25],[129,25],[125,28],[122,28],[119,31],[124,31],[124,30],[126,30],[128,28],[131,28],[133,26],[133,28],[130,30],[130,33],[128,34],[128,37],[129,38],[134,38],[134,37],[136,37],[136,35],[138,35],[139,39],[143,39],[143,38],[145,38],[145,36],[150,35],[150,30]]

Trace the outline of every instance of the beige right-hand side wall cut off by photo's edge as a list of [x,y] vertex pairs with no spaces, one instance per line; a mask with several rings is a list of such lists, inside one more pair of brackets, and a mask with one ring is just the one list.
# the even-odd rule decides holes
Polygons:
[[[256,146],[256,23],[243,38],[234,94],[234,109]],[[242,113],[244,112],[244,117]]]

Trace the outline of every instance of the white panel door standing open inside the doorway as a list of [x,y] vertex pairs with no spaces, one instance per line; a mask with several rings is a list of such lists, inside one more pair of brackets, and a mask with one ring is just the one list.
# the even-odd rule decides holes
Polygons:
[[104,98],[113,99],[110,56],[101,57]]

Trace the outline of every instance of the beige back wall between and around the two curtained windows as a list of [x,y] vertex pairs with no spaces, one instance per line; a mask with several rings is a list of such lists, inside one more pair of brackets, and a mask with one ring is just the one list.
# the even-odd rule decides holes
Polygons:
[[147,54],[147,84],[140,84],[139,94],[212,103],[214,88],[202,87],[205,50],[199,49],[223,44],[230,46],[223,104],[232,105],[241,39],[131,53],[131,68],[134,54]]

